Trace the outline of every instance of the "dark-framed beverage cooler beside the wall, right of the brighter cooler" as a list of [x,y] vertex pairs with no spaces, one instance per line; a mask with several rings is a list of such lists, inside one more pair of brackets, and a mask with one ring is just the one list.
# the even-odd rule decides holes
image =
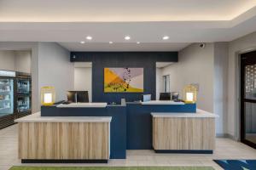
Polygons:
[[32,86],[31,76],[26,73],[16,72],[15,112],[16,117],[31,114]]

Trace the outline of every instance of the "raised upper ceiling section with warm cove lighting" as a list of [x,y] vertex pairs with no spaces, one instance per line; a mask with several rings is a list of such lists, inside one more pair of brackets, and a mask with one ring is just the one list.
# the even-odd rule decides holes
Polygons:
[[255,0],[1,0],[0,21],[233,20]]

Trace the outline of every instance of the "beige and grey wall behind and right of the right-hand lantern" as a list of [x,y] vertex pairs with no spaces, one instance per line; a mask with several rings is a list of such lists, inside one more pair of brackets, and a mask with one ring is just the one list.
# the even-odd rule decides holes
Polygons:
[[228,43],[199,43],[189,45],[179,52],[178,63],[162,69],[162,76],[170,75],[172,92],[179,92],[183,98],[183,87],[199,85],[197,107],[213,112],[216,119],[217,136],[227,133],[227,88],[228,88]]

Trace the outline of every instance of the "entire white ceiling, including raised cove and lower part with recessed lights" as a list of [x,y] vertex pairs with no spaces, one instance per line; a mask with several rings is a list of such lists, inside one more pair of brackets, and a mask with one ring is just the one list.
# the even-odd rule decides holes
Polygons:
[[72,51],[177,51],[256,31],[255,5],[256,0],[1,0],[0,42],[59,42]]

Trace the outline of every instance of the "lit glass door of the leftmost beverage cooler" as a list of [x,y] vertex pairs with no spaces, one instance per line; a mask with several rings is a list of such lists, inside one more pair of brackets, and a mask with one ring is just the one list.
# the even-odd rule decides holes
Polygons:
[[0,77],[0,116],[14,113],[14,79]]

